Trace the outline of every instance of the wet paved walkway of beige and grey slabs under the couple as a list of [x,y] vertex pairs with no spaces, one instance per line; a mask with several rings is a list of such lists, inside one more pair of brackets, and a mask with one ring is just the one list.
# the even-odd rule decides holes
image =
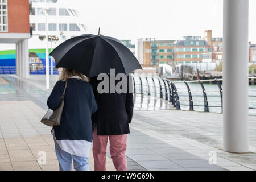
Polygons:
[[[51,87],[56,80],[51,77]],[[40,123],[50,91],[44,76],[0,76],[0,170],[58,169],[50,129]],[[256,169],[256,117],[249,117],[250,154],[230,154],[222,151],[221,114],[177,111],[166,101],[140,97],[127,141],[129,170]],[[145,105],[148,99],[154,104]],[[38,164],[39,151],[46,151],[46,165]],[[217,165],[209,164],[209,152],[216,152]],[[90,163],[93,169],[92,155]],[[110,158],[108,169],[114,169]]]

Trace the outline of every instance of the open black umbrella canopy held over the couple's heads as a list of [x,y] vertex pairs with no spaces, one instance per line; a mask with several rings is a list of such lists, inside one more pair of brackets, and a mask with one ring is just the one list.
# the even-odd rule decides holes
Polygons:
[[100,73],[128,75],[135,69],[142,69],[133,53],[118,39],[93,34],[82,34],[66,40],[50,54],[54,57],[56,67],[75,69],[87,77]]

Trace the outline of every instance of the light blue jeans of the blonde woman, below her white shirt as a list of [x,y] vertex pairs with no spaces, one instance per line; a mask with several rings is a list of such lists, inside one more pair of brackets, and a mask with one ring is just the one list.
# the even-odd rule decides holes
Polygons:
[[60,171],[71,171],[72,159],[76,171],[89,171],[89,163],[87,157],[69,154],[68,152],[62,150],[55,140],[54,143],[56,156],[59,161]]

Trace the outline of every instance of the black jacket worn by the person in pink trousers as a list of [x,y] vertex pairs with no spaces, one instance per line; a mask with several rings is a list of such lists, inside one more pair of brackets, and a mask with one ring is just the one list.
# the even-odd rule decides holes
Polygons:
[[[98,110],[92,115],[93,129],[97,125],[98,135],[121,135],[130,133],[129,123],[133,118],[133,93],[98,93],[100,81],[90,79]],[[115,81],[115,85],[118,81]],[[110,83],[109,83],[110,86]],[[109,88],[110,90],[110,88]]]

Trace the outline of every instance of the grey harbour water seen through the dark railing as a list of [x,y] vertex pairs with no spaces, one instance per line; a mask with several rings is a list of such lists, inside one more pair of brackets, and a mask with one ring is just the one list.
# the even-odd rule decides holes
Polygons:
[[[154,82],[156,87],[155,90],[154,90],[154,84],[152,79],[151,78],[148,79],[151,96],[154,96],[155,94],[155,96],[160,97],[159,80],[157,78],[154,78]],[[162,85],[163,98],[165,98],[164,82],[160,80],[160,84]],[[193,105],[201,105],[201,106],[194,106],[193,109],[195,111],[204,111],[204,97],[203,97],[203,90],[201,88],[201,85],[198,83],[188,83],[188,85],[191,90]],[[147,94],[148,86],[147,86],[146,78],[142,78],[142,86],[143,86],[143,93]],[[184,82],[175,83],[175,86],[177,88],[177,93],[179,94],[179,100],[181,104],[180,109],[189,110],[189,106],[185,106],[185,105],[189,105],[187,86],[184,84]],[[140,81],[139,81],[139,78],[136,78],[136,77],[135,77],[135,88],[137,93],[141,92]],[[209,111],[212,113],[221,113],[221,97],[220,97],[220,89],[218,88],[218,85],[204,83],[204,88],[207,93]],[[168,92],[168,86],[167,86],[167,92]],[[168,96],[169,96],[169,92],[168,92]],[[256,96],[256,85],[249,85],[249,96]],[[256,97],[249,97],[249,107],[256,108]],[[249,109],[249,115],[256,115],[256,109]]]

